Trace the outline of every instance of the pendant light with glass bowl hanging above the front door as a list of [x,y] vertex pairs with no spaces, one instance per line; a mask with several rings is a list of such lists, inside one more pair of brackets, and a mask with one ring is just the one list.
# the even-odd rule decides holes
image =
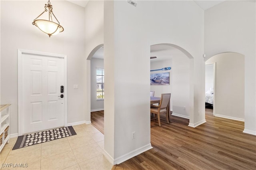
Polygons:
[[[64,28],[60,25],[60,22],[57,20],[57,18],[54,16],[52,12],[52,5],[50,0],[48,1],[48,4],[45,4],[44,8],[44,12],[48,11],[48,20],[38,19],[42,14],[44,14],[44,12],[42,12],[42,14],[40,14],[38,17],[36,17],[36,19],[34,19],[32,24],[39,28],[39,30],[41,30],[42,32],[48,34],[49,37],[51,37],[52,35],[56,35],[59,32],[63,32]],[[58,23],[52,21],[52,16]]]

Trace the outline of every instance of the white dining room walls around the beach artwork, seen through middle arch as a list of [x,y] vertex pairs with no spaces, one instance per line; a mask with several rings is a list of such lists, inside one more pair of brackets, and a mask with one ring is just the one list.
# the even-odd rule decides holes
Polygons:
[[[154,52],[154,55],[161,57],[157,52]],[[171,51],[169,55],[173,55]],[[184,53],[180,52],[176,53],[171,59],[150,62],[150,70],[163,67],[172,67],[172,69],[170,71],[152,71],[150,73],[170,72],[170,85],[150,85],[150,91],[155,91],[156,97],[160,97],[162,93],[171,93],[170,110],[172,115],[189,119],[189,110],[187,110],[189,109],[190,94],[189,59]]]

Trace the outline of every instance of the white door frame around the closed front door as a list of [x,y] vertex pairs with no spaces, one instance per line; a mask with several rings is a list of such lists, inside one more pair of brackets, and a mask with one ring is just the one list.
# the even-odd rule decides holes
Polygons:
[[67,114],[67,55],[18,49],[18,136],[22,135],[22,54],[41,55],[42,57],[58,57],[64,59],[64,126],[68,125]]

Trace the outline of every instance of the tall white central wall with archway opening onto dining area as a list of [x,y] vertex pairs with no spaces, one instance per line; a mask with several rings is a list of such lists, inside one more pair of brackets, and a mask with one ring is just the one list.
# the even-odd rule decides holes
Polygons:
[[[111,138],[106,138],[108,135],[105,134],[104,142],[108,143],[105,150],[106,145],[111,147],[106,151],[114,163],[151,146],[150,45],[176,44],[194,57],[190,59],[193,63],[189,62],[192,66],[190,74],[193,73],[192,88],[189,85],[189,89],[193,95],[188,110],[196,113],[191,119],[193,125],[205,121],[203,17],[203,10],[193,1],[138,1],[137,7],[127,1],[104,3],[104,23],[108,23],[104,29],[104,105],[106,115],[113,118],[105,119],[104,130],[114,128],[114,134],[109,134]],[[108,59],[112,61],[111,65],[106,61]],[[108,75],[113,78],[109,76],[107,80]],[[113,108],[106,108],[107,105]],[[132,132],[136,132],[133,140]]]

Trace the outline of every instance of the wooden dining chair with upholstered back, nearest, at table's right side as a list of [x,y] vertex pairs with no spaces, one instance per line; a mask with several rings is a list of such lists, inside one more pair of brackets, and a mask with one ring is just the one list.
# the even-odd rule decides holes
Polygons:
[[154,113],[157,115],[159,126],[161,126],[161,122],[160,122],[161,113],[166,113],[166,120],[167,120],[167,123],[169,123],[168,109],[170,108],[168,106],[169,106],[170,98],[171,98],[171,93],[163,93],[161,95],[160,103],[158,106],[150,105],[150,113]]

